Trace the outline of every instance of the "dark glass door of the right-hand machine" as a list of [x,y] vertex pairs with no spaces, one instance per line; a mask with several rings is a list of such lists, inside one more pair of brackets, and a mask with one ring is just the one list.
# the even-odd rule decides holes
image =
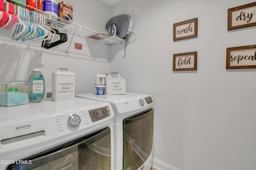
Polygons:
[[124,119],[123,170],[137,170],[153,148],[153,109]]

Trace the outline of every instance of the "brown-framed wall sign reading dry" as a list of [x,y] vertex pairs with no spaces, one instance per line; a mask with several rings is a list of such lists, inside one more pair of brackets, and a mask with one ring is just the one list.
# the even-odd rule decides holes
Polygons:
[[256,2],[228,9],[228,30],[256,25]]

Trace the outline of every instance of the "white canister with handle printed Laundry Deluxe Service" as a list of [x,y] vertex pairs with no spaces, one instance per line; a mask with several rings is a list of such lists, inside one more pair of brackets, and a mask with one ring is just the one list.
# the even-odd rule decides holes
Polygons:
[[[68,72],[60,72],[67,70]],[[69,68],[58,67],[58,72],[52,73],[52,101],[69,101],[75,98],[75,73]]]

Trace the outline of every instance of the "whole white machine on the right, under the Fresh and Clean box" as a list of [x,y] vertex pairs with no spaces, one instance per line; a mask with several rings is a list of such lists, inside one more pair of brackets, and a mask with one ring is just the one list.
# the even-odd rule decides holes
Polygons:
[[150,170],[153,159],[154,101],[151,95],[77,94],[108,102],[114,110],[114,170]]

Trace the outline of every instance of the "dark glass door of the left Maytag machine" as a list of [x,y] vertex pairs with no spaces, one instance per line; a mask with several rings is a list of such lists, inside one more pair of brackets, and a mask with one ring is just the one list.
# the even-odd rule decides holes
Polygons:
[[7,170],[110,170],[110,128],[17,160]]

